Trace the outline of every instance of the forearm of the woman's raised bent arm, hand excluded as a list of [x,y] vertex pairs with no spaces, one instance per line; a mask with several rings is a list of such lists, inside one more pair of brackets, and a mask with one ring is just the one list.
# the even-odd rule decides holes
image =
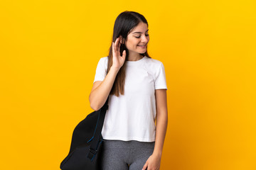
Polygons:
[[95,110],[99,110],[107,101],[110,94],[114,80],[117,77],[119,69],[111,67],[110,72],[107,73],[105,79],[96,89],[92,90],[89,96],[90,106]]

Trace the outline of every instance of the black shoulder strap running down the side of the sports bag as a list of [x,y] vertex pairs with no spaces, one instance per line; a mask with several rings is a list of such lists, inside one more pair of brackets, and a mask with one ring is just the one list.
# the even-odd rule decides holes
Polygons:
[[102,138],[101,132],[102,132],[105,115],[106,115],[106,112],[108,109],[108,105],[107,105],[108,99],[109,99],[109,96],[107,97],[107,101],[105,102],[104,106],[102,106],[102,108],[100,108],[100,118],[97,121],[95,136],[92,139],[92,143],[90,145],[90,151],[87,155],[87,157],[89,159],[91,159],[91,161],[97,154],[97,147],[98,147],[99,143],[102,142],[102,141],[100,141]]

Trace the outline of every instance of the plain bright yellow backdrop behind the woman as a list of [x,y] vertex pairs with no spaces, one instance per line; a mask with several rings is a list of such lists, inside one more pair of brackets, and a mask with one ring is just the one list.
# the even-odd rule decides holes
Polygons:
[[161,170],[256,169],[255,0],[2,0],[1,169],[59,169],[125,10],[166,70]]

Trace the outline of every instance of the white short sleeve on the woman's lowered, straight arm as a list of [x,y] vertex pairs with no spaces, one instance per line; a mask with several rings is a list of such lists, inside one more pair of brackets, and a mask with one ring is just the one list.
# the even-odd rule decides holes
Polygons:
[[161,62],[159,70],[156,72],[155,89],[166,89],[166,74],[164,71],[164,64]]

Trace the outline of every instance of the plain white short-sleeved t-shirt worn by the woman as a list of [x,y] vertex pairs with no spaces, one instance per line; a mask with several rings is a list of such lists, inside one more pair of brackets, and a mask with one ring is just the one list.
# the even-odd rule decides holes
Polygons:
[[[97,64],[95,81],[107,75],[108,57]],[[167,89],[164,64],[159,60],[143,57],[126,61],[124,95],[110,95],[108,110],[102,128],[105,140],[155,141],[156,89]]]

